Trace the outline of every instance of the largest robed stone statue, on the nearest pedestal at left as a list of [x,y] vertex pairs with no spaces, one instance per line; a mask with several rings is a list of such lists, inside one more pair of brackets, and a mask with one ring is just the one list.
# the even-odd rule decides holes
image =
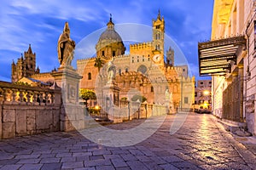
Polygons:
[[58,40],[58,59],[61,66],[71,65],[74,48],[75,42],[70,38],[70,30],[66,22]]

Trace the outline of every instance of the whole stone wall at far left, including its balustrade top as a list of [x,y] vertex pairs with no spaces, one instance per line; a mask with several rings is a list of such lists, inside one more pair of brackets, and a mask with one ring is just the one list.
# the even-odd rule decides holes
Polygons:
[[60,131],[61,88],[0,82],[0,139]]

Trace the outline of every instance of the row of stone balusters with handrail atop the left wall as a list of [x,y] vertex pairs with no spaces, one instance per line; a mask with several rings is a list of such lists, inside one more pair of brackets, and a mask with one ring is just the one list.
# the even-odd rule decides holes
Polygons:
[[[0,81],[0,104],[53,105],[56,98],[61,98],[61,88],[30,87]],[[61,101],[61,99],[56,101]]]

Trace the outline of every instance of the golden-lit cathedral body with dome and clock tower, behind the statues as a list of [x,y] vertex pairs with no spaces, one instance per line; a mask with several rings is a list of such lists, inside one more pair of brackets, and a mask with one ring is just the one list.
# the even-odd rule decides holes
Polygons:
[[[152,21],[152,41],[131,44],[130,54],[125,54],[125,45],[114,30],[112,18],[107,26],[96,43],[96,56],[77,60],[78,73],[83,77],[80,88],[95,90],[97,80],[104,77],[104,72],[108,72],[104,64],[108,65],[112,61],[120,99],[129,99],[132,88],[143,95],[148,103],[163,104],[167,90],[172,96],[173,110],[192,108],[195,77],[188,76],[188,65],[174,65],[171,47],[166,50],[165,59],[165,20],[160,12]],[[102,66],[97,66],[96,59],[101,60]]]

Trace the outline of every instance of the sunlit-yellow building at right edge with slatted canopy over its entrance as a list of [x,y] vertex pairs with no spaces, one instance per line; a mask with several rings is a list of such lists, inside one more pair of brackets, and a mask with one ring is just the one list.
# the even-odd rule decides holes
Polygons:
[[212,111],[245,122],[256,133],[255,6],[253,0],[215,0],[212,37],[199,43],[201,76],[212,76]]

